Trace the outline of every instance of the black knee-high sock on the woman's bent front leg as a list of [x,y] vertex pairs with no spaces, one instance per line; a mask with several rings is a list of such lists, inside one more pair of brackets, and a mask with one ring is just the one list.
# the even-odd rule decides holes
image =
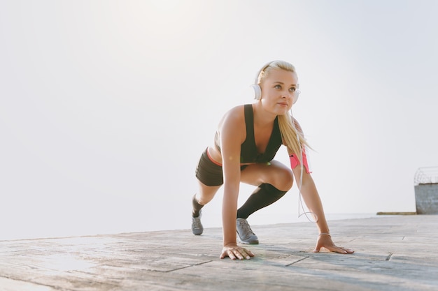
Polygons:
[[248,200],[237,209],[237,218],[248,218],[255,211],[267,207],[283,197],[288,191],[280,191],[271,184],[261,184]]

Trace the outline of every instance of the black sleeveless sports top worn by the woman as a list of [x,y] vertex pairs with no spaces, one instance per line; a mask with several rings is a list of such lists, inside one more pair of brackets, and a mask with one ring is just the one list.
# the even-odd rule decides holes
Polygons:
[[[244,105],[245,110],[245,124],[246,124],[246,139],[240,146],[240,163],[267,163],[272,161],[276,155],[281,144],[283,144],[281,139],[280,128],[278,127],[278,117],[274,120],[274,128],[272,128],[271,137],[269,137],[269,142],[267,144],[264,153],[260,154],[257,151],[254,138],[254,113],[253,105]],[[215,136],[216,147],[220,151],[218,143],[218,133]]]

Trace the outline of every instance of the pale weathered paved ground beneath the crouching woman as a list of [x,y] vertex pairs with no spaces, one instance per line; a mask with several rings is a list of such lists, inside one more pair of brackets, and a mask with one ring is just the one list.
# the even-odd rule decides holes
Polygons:
[[313,223],[253,225],[251,260],[220,260],[222,230],[0,241],[0,291],[438,290],[438,216],[330,221],[353,255],[312,253]]

